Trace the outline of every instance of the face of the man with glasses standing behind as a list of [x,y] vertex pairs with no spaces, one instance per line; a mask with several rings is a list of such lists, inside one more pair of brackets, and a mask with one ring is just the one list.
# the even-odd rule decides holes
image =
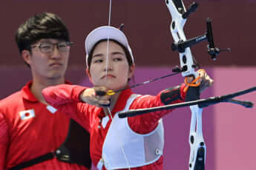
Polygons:
[[[65,45],[65,42],[63,42]],[[53,45],[56,44],[56,45]],[[69,48],[66,51],[57,48],[63,47],[62,42],[56,39],[41,39],[36,44],[31,45],[31,52],[24,58],[30,64],[32,75],[35,78],[59,79],[64,78],[68,66]],[[53,45],[52,52],[45,52]],[[41,49],[40,49],[41,47]],[[49,51],[49,50],[48,50]],[[50,50],[51,51],[51,50]]]

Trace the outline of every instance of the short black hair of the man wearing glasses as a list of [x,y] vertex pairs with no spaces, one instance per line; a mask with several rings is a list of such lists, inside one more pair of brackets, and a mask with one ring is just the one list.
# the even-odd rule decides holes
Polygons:
[[68,29],[59,16],[54,13],[39,13],[24,21],[16,31],[16,44],[20,54],[42,38],[70,41]]

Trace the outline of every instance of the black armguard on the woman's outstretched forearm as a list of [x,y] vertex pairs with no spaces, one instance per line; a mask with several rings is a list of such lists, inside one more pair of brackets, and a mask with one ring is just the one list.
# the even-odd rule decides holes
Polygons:
[[163,90],[160,95],[160,99],[165,105],[181,99],[180,86],[173,86]]

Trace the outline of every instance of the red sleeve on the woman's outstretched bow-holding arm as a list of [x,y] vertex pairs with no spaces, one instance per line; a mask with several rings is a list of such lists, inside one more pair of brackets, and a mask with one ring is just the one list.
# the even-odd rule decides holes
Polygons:
[[[185,87],[185,84],[182,84],[180,86],[180,98],[175,99],[171,103],[181,103],[184,101],[184,99],[186,98],[186,92],[184,92]],[[164,106],[165,103],[161,100],[161,95],[163,94],[163,92],[165,92],[165,90],[161,91],[156,96],[142,95],[136,98],[134,102],[131,104],[130,109],[144,109],[155,106]],[[134,132],[140,134],[147,134],[149,132],[152,132],[157,127],[160,118],[163,118],[164,115],[167,115],[171,111],[171,109],[168,109],[158,112],[150,112],[143,115],[137,115],[134,117],[129,117],[128,123],[131,129],[134,130]]]

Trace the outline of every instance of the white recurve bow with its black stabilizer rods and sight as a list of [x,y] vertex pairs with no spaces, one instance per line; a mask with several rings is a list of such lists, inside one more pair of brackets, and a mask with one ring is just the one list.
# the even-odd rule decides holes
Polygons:
[[[197,7],[197,3],[191,4],[191,6],[186,10],[182,0],[165,0],[165,4],[171,13],[171,34],[174,38],[174,43],[171,44],[171,48],[174,51],[180,53],[180,67],[173,69],[174,72],[182,72],[183,77],[194,76],[195,80],[198,78],[198,73],[195,71],[198,64],[194,60],[191,54],[190,47],[194,44],[198,44],[201,41],[208,41],[208,53],[211,55],[213,60],[216,60],[217,55],[220,51],[230,51],[230,49],[220,50],[214,47],[213,34],[211,30],[211,19],[207,18],[206,27],[207,31],[203,35],[197,36],[195,38],[186,39],[186,35],[183,31],[183,27],[186,24],[188,16],[193,13]],[[256,90],[256,86],[250,89],[246,89],[240,92],[235,92],[229,95],[223,95],[220,97],[206,98],[200,100],[199,85],[187,84],[190,86],[187,92],[186,102],[171,104],[167,106],[154,107],[149,109],[137,109],[130,110],[128,112],[119,112],[119,118],[126,118],[134,115],[144,114],[146,112],[156,112],[164,109],[174,109],[182,106],[190,106],[191,109],[191,126],[188,141],[190,144],[190,157],[188,163],[189,170],[204,170],[206,164],[206,143],[203,139],[203,129],[202,129],[202,112],[203,107],[210,106],[214,103],[220,102],[230,102],[237,103],[242,106],[252,107],[253,103],[249,101],[237,101],[232,98],[238,95],[243,95]]]

